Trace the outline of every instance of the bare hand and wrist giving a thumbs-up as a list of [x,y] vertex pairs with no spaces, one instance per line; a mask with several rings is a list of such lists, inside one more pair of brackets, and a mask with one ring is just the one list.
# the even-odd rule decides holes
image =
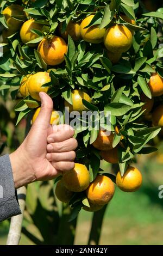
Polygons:
[[[20,147],[10,154],[15,188],[37,180],[51,180],[74,168],[77,148],[74,130],[69,125],[51,126],[53,101],[46,93],[40,113]],[[37,136],[36,136],[37,135]]]

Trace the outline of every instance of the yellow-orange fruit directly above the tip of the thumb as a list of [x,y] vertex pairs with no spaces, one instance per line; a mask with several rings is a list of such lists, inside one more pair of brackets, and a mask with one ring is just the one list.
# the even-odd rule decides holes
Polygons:
[[41,101],[39,93],[48,92],[49,87],[42,87],[43,84],[51,82],[51,77],[47,72],[37,72],[34,74],[28,82],[28,91],[33,99]]

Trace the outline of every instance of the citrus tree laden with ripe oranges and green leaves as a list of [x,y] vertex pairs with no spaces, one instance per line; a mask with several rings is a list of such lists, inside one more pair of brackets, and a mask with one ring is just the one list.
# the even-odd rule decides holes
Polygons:
[[22,231],[36,244],[72,244],[81,209],[95,212],[89,243],[98,243],[114,183],[141,186],[136,154],[156,150],[149,144],[163,126],[162,19],[162,8],[148,13],[137,0],[1,1],[1,92],[22,97],[16,125],[35,112],[34,123],[46,92],[51,124],[68,117],[78,141],[74,169],[28,189],[26,226],[43,241]]

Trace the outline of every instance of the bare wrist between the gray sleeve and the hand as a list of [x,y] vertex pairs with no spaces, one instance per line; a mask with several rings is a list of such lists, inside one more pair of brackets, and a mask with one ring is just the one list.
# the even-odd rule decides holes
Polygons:
[[35,175],[26,154],[18,148],[9,155],[15,188],[19,188],[35,181]]

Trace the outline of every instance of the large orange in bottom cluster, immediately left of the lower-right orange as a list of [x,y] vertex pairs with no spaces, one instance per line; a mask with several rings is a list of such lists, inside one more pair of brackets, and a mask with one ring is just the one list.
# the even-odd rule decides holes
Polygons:
[[91,204],[108,204],[114,196],[114,183],[104,175],[97,175],[86,190],[87,199]]

